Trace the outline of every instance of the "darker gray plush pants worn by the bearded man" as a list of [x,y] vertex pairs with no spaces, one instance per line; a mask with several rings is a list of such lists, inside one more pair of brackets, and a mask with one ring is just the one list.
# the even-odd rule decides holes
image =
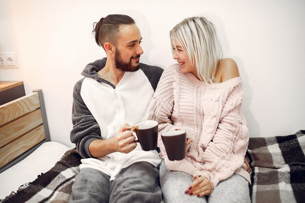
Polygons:
[[70,203],[160,203],[159,170],[148,162],[123,168],[113,181],[93,168],[82,168],[72,185]]

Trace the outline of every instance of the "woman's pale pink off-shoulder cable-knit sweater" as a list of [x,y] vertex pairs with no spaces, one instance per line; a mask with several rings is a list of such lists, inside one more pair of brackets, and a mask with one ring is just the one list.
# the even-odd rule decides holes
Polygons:
[[[159,123],[158,147],[170,170],[210,179],[212,187],[233,173],[250,181],[244,156],[248,125],[241,112],[240,77],[206,84],[193,74],[183,74],[178,65],[167,68],[152,98],[148,119]],[[167,157],[161,133],[184,129],[192,143],[181,161]],[[174,144],[174,143],[173,143]]]

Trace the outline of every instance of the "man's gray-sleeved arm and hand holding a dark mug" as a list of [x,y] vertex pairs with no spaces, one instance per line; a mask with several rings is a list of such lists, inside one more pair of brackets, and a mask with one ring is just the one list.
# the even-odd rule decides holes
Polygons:
[[[82,80],[79,80],[73,91],[72,123],[70,133],[72,143],[76,144],[78,153],[83,158],[102,157],[115,151],[128,153],[136,147],[131,126],[124,124],[113,138],[103,140],[100,128],[85,105],[80,95]],[[126,131],[127,130],[127,131]]]

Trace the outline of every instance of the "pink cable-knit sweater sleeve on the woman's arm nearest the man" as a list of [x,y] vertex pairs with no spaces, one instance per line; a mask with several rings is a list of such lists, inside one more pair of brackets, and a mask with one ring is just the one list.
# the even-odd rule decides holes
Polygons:
[[174,104],[174,70],[168,67],[161,75],[157,89],[152,97],[148,112],[148,120],[155,120],[159,123],[158,147],[161,153],[165,148],[161,139],[161,133],[178,129],[173,126],[172,108]]

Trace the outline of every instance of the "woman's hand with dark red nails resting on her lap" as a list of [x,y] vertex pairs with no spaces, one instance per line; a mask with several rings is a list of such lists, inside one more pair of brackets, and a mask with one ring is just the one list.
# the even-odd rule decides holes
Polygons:
[[191,184],[186,194],[197,195],[197,197],[203,197],[212,193],[212,186],[205,176],[195,176],[194,182]]

